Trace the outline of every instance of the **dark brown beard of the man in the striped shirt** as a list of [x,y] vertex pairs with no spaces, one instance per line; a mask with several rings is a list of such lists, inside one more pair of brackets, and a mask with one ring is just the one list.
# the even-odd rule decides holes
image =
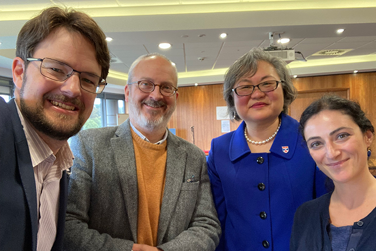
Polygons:
[[[24,99],[25,86],[27,77],[23,79],[20,91],[20,110],[23,116],[32,124],[32,126],[44,135],[58,141],[68,140],[70,137],[80,132],[82,126],[86,122],[84,117],[85,104],[78,98],[70,98],[62,94],[45,93],[42,100],[36,102],[34,106],[27,105]],[[72,117],[56,113],[55,119],[49,119],[44,114],[43,104],[47,99],[60,100],[62,102],[70,102],[79,107],[79,116],[77,121],[72,121]]]

